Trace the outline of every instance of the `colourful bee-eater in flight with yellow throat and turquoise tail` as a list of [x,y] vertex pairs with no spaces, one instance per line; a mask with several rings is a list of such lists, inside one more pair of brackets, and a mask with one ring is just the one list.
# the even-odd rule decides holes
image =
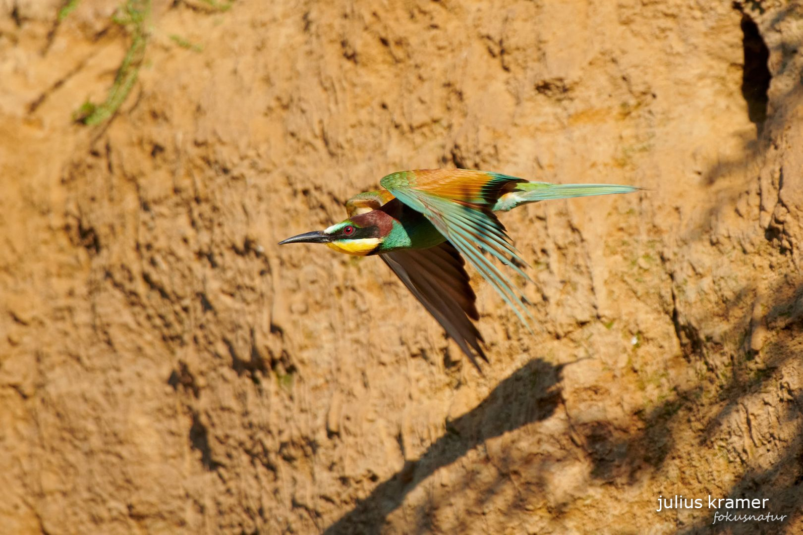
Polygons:
[[479,371],[476,356],[488,359],[480,346],[482,334],[471,322],[479,314],[463,258],[525,326],[529,328],[525,316],[532,319],[503,270],[492,261],[495,258],[532,282],[495,212],[537,201],[639,189],[617,184],[550,184],[469,169],[394,172],[380,184],[384,190],[359,193],[346,201],[349,219],[288,237],[279,245],[325,243],[340,253],[379,255]]

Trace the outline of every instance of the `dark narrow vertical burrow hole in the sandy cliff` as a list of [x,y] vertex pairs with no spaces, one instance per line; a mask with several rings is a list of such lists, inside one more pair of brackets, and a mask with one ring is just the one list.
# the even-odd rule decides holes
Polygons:
[[767,120],[767,90],[772,75],[769,74],[767,60],[769,49],[764,38],[748,14],[742,14],[742,50],[744,67],[742,70],[742,96],[748,103],[748,118],[756,125],[758,134]]

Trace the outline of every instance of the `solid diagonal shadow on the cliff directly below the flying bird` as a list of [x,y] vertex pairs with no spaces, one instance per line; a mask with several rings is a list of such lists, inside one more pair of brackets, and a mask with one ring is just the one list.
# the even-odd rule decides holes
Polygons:
[[[418,460],[374,488],[324,533],[380,533],[385,519],[438,468],[454,463],[486,440],[549,418],[561,403],[561,371],[543,359],[532,359],[504,379],[482,403],[446,424],[446,434]],[[424,530],[419,525],[419,531]]]

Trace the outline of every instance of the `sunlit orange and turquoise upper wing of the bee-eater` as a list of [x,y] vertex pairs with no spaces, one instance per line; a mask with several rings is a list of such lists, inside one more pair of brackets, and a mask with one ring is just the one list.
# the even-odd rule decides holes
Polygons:
[[525,279],[532,280],[521,270],[520,265],[526,263],[512,245],[504,225],[491,211],[499,197],[522,181],[498,173],[433,169],[393,173],[385,176],[381,184],[399,201],[429,219],[529,329],[524,316],[532,318],[532,315],[499,266],[484,254],[490,253]]

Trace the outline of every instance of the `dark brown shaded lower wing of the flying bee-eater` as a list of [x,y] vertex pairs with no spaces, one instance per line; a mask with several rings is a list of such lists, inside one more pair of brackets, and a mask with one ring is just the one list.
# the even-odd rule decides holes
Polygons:
[[479,345],[483,336],[471,322],[479,318],[476,296],[457,249],[444,241],[430,249],[404,249],[379,256],[482,372],[475,354],[488,362]]

